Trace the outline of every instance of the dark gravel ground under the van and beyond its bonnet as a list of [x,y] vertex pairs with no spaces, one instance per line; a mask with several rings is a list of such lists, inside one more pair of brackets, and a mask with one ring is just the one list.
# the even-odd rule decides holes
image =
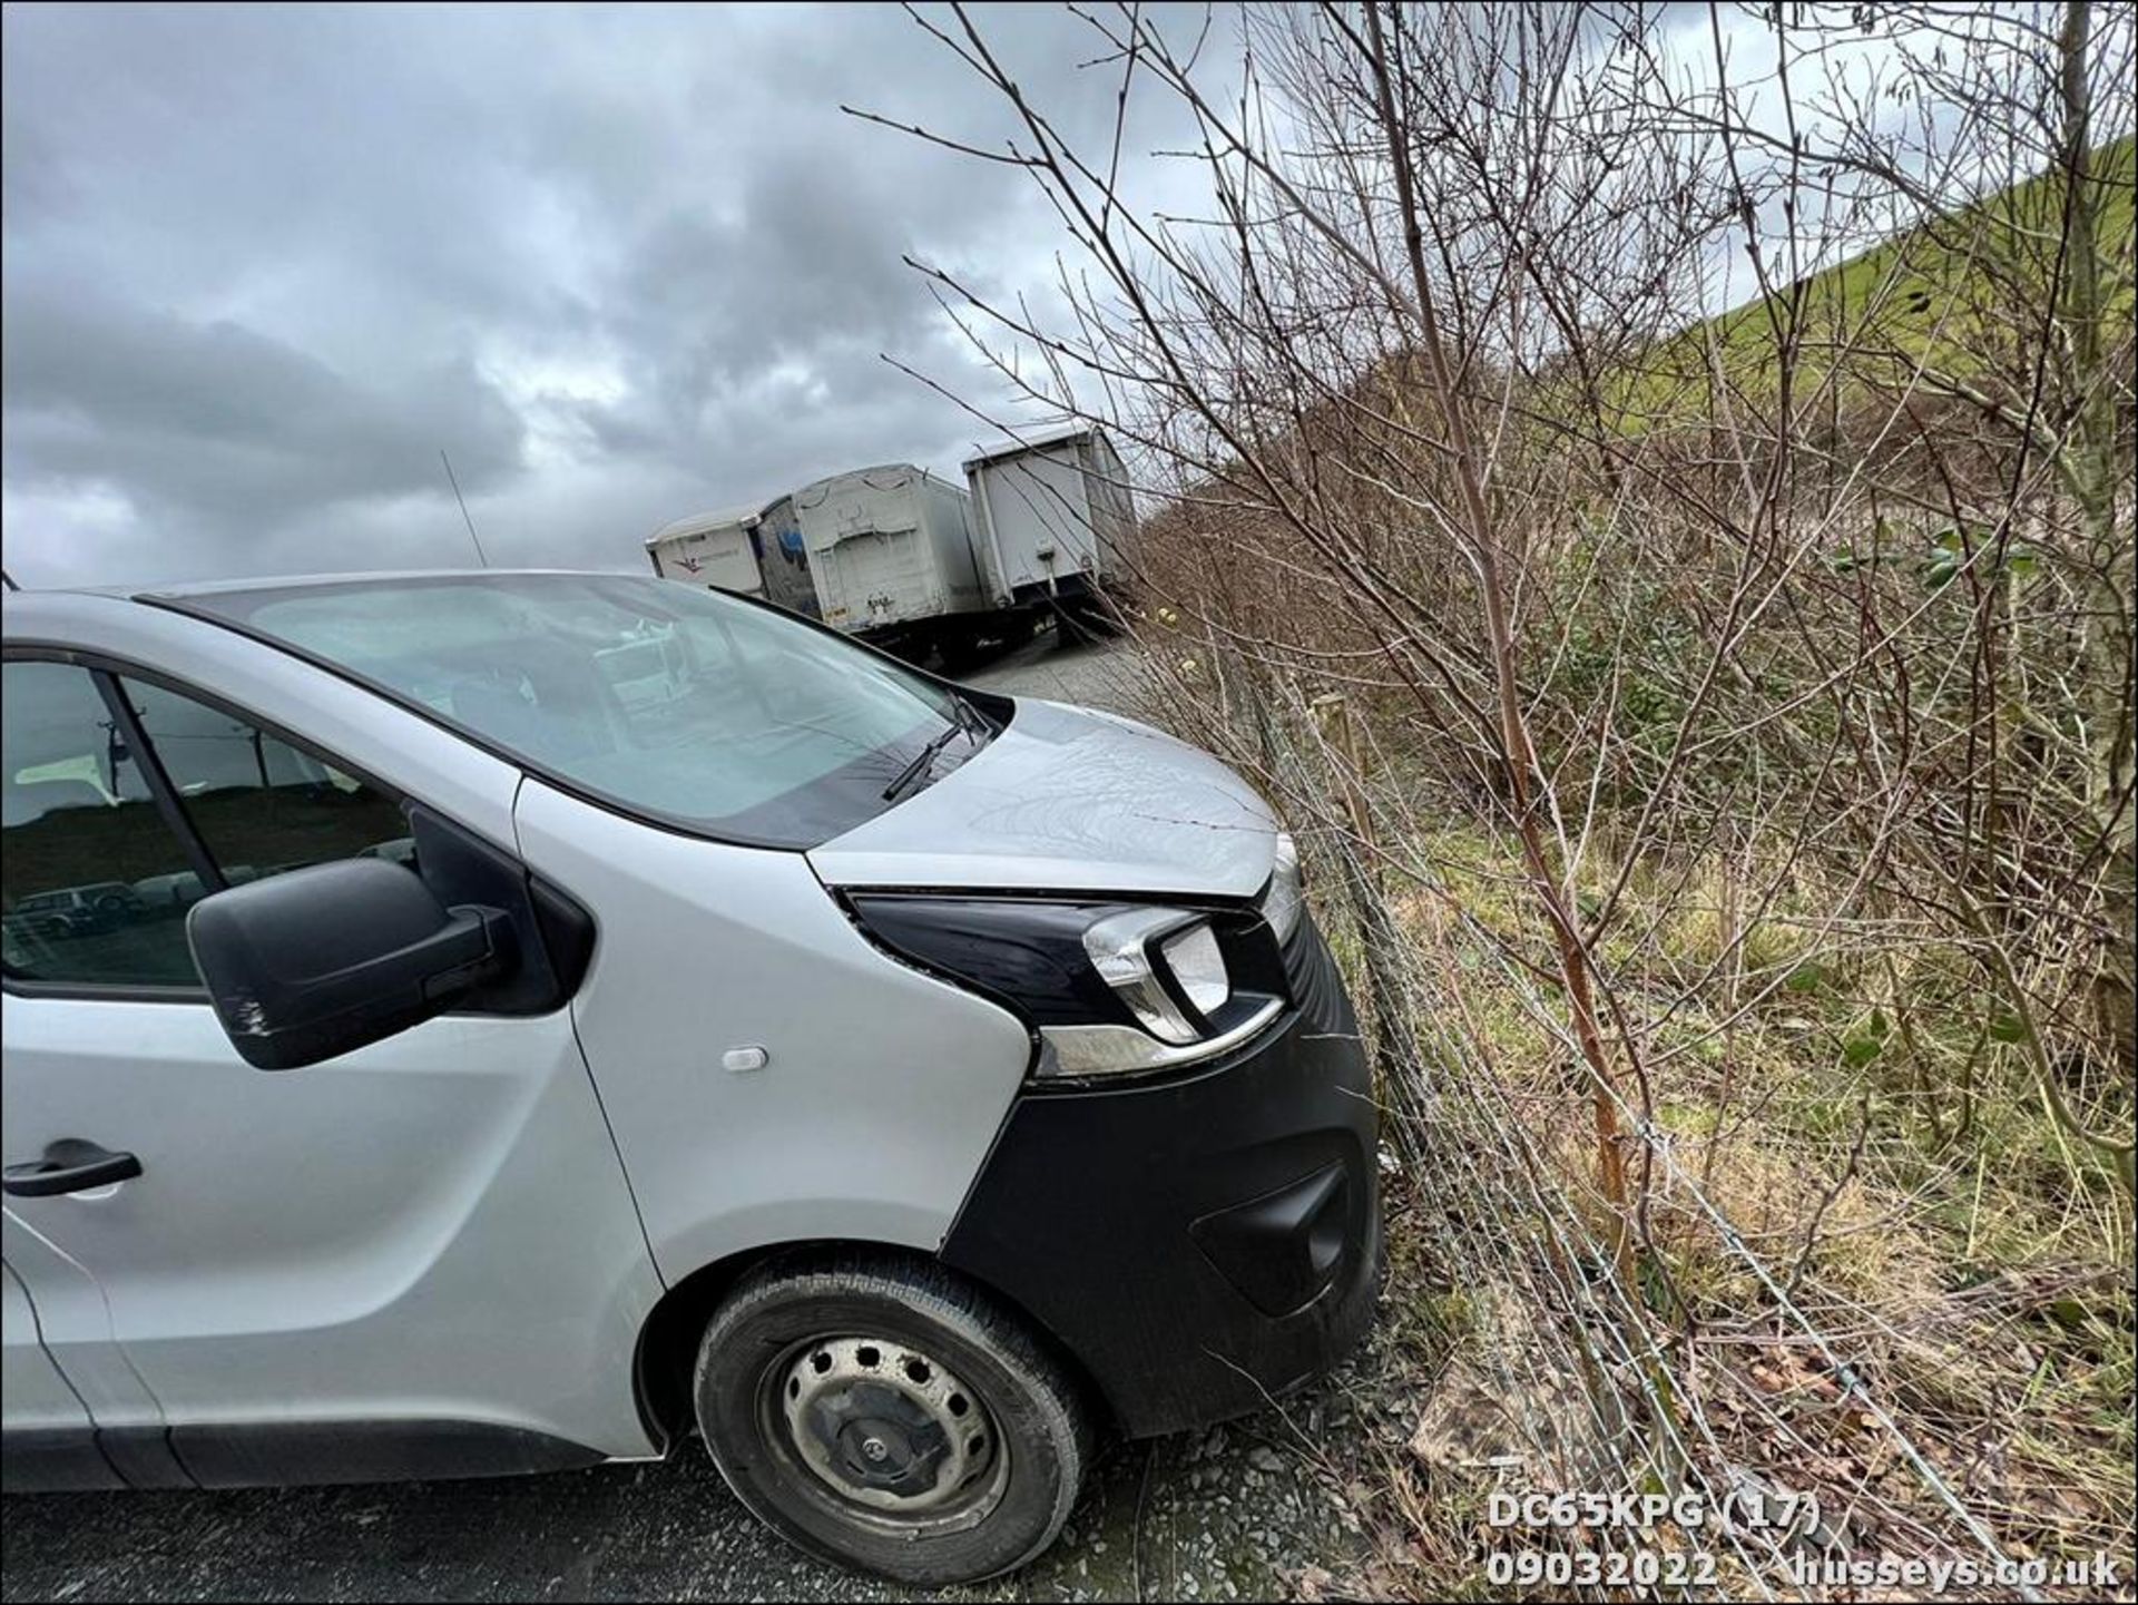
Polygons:
[[[1133,658],[1041,635],[969,677],[1120,705]],[[1054,1549],[949,1596],[1272,1599],[1308,1569],[1343,1573],[1360,1539],[1300,1453],[1353,1425],[1341,1378],[1204,1434],[1114,1443]],[[695,1443],[665,1464],[498,1481],[17,1496],[0,1532],[0,1594],[24,1601],[902,1596],[789,1549]]]

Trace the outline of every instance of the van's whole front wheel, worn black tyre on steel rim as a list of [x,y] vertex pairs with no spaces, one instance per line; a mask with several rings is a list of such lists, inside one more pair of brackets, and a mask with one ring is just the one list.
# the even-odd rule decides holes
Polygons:
[[825,1560],[960,1584],[1045,1549],[1090,1458],[1073,1381],[928,1261],[753,1272],[697,1351],[697,1423],[735,1496]]

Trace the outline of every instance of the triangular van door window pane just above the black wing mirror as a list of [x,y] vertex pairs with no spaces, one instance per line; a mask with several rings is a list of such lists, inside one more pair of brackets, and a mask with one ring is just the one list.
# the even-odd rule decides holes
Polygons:
[[231,885],[331,859],[415,866],[400,799],[175,690],[126,677],[120,688]]

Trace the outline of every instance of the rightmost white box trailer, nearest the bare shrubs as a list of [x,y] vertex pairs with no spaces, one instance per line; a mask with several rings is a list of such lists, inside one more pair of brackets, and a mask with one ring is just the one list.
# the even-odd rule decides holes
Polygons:
[[1069,425],[981,451],[964,464],[973,547],[998,611],[1103,622],[1127,579],[1129,479],[1101,430]]

